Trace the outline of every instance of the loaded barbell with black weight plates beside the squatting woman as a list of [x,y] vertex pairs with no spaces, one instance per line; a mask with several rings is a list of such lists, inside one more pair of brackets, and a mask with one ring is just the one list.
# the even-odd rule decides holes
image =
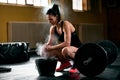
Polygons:
[[107,65],[112,64],[117,55],[118,48],[112,41],[85,43],[77,50],[74,65],[81,74],[93,77],[102,73]]

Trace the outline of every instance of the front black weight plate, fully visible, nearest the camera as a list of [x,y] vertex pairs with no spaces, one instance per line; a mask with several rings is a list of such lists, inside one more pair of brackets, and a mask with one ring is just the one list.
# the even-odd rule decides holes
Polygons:
[[[86,61],[88,64],[86,63]],[[99,45],[86,43],[76,52],[74,63],[76,68],[86,76],[96,76],[104,71],[107,64],[107,56]]]

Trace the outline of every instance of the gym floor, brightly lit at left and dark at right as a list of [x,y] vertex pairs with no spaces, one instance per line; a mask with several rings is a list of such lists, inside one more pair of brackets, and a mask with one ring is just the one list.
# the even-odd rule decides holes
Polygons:
[[[70,74],[69,72],[55,72],[55,77],[39,76],[35,60],[39,56],[31,56],[27,62],[10,65],[0,65],[0,67],[11,68],[10,72],[0,73],[0,80],[120,80],[120,53],[114,63],[96,77],[89,78],[82,74]],[[59,65],[59,62],[57,66]]]

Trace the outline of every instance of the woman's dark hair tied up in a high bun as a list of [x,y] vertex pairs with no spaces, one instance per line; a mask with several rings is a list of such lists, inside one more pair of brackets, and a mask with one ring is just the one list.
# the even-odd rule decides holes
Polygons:
[[54,4],[52,8],[50,8],[47,13],[47,15],[53,15],[53,16],[58,16],[58,22],[61,20],[61,15],[59,11],[59,7],[57,4]]

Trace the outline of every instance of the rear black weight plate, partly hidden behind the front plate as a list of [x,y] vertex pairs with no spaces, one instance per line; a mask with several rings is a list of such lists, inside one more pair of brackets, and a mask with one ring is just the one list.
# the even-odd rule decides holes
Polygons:
[[118,55],[117,46],[109,40],[98,41],[97,44],[102,46],[105,51],[107,51],[108,64],[112,64],[116,60]]

